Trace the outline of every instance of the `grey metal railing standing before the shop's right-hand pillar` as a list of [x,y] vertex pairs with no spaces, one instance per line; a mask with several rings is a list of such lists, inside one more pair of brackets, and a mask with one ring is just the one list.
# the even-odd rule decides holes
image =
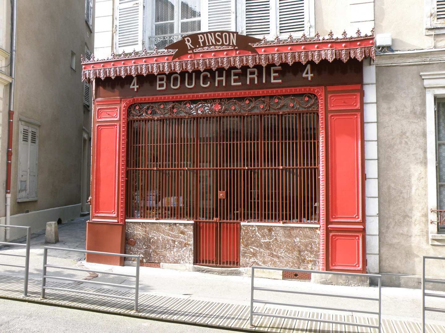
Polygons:
[[[271,289],[271,288],[262,288],[255,287],[254,278],[255,278],[255,270],[278,270],[278,271],[287,271],[287,272],[296,272],[296,273],[311,273],[311,274],[327,274],[327,275],[346,275],[346,276],[356,276],[356,277],[373,277],[377,278],[379,281],[379,297],[359,297],[359,296],[349,296],[349,295],[336,295],[336,294],[324,294],[324,293],[310,293],[307,291],[295,291],[295,290],[283,290],[283,289]],[[253,325],[253,316],[263,316],[263,317],[275,317],[275,318],[283,318],[283,319],[297,319],[304,321],[317,321],[321,323],[330,323],[330,324],[340,324],[340,325],[355,325],[361,327],[368,327],[373,329],[378,329],[380,333],[381,329],[381,301],[382,301],[382,276],[380,274],[360,274],[360,273],[346,273],[346,272],[329,272],[329,271],[319,271],[319,270],[298,270],[298,269],[290,269],[290,268],[276,268],[276,267],[261,267],[261,266],[252,266],[252,275],[251,275],[251,307],[250,307],[250,325]],[[378,301],[378,312],[373,311],[363,311],[363,310],[352,310],[352,309],[341,309],[341,308],[331,308],[331,307],[322,307],[322,306],[312,306],[312,305],[302,305],[302,304],[291,304],[291,303],[281,303],[275,301],[267,301],[267,300],[258,300],[254,298],[254,290],[260,291],[270,291],[276,293],[296,293],[296,294],[304,294],[304,295],[313,295],[313,296],[324,296],[324,297],[342,297],[342,298],[352,298],[359,300],[368,300],[368,301]],[[368,325],[368,324],[360,324],[360,323],[349,323],[347,321],[334,321],[328,319],[319,319],[319,318],[308,318],[308,317],[291,317],[278,315],[273,313],[260,313],[253,311],[254,303],[263,303],[263,304],[273,304],[273,305],[283,305],[283,306],[294,306],[294,307],[303,307],[310,309],[323,309],[323,310],[332,310],[332,311],[343,311],[343,312],[357,312],[357,313],[367,313],[378,315],[379,323],[378,325]]]

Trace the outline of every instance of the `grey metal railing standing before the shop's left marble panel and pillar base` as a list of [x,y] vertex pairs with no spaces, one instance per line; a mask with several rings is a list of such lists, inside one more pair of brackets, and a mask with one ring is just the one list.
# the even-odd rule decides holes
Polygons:
[[[139,266],[140,266],[140,258],[136,255],[131,254],[120,254],[120,253],[111,253],[111,252],[99,252],[99,251],[87,251],[87,250],[77,250],[77,249],[65,249],[62,247],[53,247],[53,246],[44,246],[43,248],[43,271],[42,271],[42,291],[40,298],[44,299],[45,297],[45,289],[51,289],[51,290],[59,290],[59,291],[69,291],[72,293],[83,293],[86,295],[94,295],[94,296],[105,296],[105,297],[111,297],[111,298],[120,298],[125,299],[129,301],[134,301],[134,312],[138,312],[138,297],[139,297]],[[90,253],[90,254],[103,254],[103,255],[109,255],[109,256],[116,256],[116,257],[125,257],[125,258],[134,258],[136,259],[136,274],[122,274],[122,273],[113,273],[113,272],[104,272],[100,270],[89,270],[89,269],[82,269],[82,268],[73,268],[73,267],[65,267],[65,266],[56,266],[56,265],[49,265],[47,263],[48,260],[48,250],[57,250],[57,251],[69,251],[69,252],[81,252],[81,253]],[[69,277],[60,277],[60,276],[53,276],[53,275],[47,275],[46,269],[47,268],[56,268],[60,270],[76,270],[76,271],[82,271],[82,272],[93,272],[93,273],[100,273],[100,274],[108,274],[108,275],[114,275],[114,276],[125,276],[125,277],[134,277],[136,279],[135,285],[119,285],[116,283],[107,283],[107,282],[98,282],[98,281],[85,281],[75,278],[69,278]],[[111,287],[119,287],[119,288],[127,288],[127,289],[134,289],[134,298],[131,297],[124,297],[124,296],[117,296],[113,294],[108,293],[93,293],[93,292],[87,292],[82,291],[78,289],[71,289],[71,288],[56,288],[56,287],[50,287],[46,285],[46,279],[57,279],[57,280],[63,280],[63,281],[73,281],[73,282],[84,282],[84,283],[91,283],[95,285],[106,285]]]

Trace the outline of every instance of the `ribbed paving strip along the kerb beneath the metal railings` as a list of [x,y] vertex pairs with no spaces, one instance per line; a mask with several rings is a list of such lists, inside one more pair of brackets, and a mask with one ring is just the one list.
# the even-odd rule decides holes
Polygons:
[[[47,290],[46,299],[40,299],[41,281],[29,280],[28,297],[23,297],[23,282],[20,277],[0,275],[0,297],[36,301],[44,304],[63,305],[79,309],[92,309],[105,313],[121,313],[133,317],[159,318],[209,326],[258,332],[280,333],[376,333],[377,329],[353,325],[377,325],[377,319],[352,315],[316,313],[287,309],[274,309],[258,306],[254,312],[275,313],[279,316],[311,317],[326,320],[344,321],[345,324],[319,323],[290,318],[261,316],[254,317],[255,327],[250,327],[250,306],[198,301],[190,298],[176,298],[145,293],[139,294],[138,313],[134,312],[134,302],[117,298],[82,295],[75,291],[107,293],[110,296],[134,297],[134,293],[119,289],[94,288],[86,284],[77,285],[72,290]],[[48,281],[54,288],[71,288],[67,283]],[[352,325],[348,325],[351,323]],[[427,333],[445,333],[445,326],[426,324]],[[382,333],[421,333],[421,323],[382,319]]]

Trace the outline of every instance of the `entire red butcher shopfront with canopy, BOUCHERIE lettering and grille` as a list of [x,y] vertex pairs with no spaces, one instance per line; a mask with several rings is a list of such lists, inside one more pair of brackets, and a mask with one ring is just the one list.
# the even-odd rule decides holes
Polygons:
[[258,54],[144,50],[82,64],[94,105],[87,250],[366,272],[373,36],[251,45]]

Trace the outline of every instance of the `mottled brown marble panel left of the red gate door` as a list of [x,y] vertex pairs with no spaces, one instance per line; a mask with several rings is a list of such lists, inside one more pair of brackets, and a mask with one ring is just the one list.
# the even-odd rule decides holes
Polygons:
[[[141,262],[193,264],[193,224],[126,222],[125,254],[141,256]],[[133,237],[134,246],[127,240]]]

